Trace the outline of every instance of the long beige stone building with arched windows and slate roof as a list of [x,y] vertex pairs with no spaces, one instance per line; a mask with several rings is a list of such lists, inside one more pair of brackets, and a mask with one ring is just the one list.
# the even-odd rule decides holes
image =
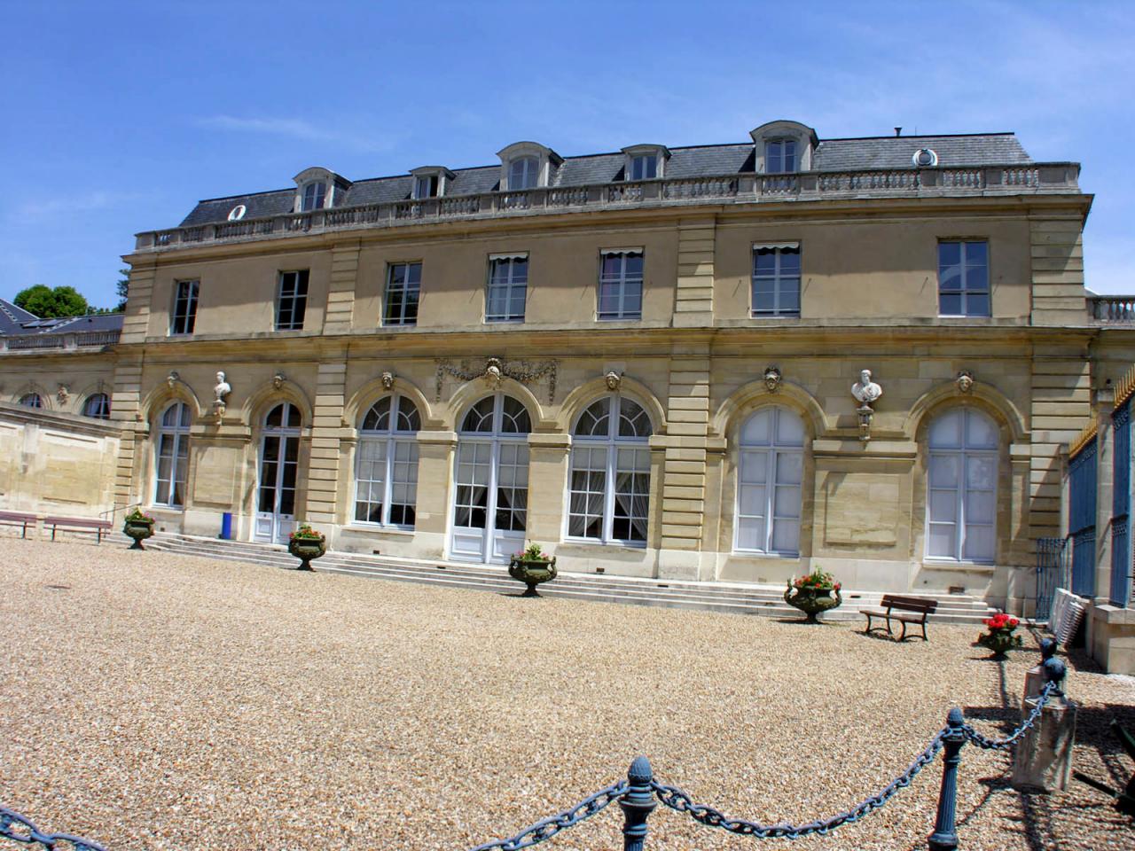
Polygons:
[[1093,387],[1135,357],[1129,307],[1084,287],[1079,167],[1012,134],[750,136],[202,201],[137,236],[118,343],[7,351],[3,407],[111,388],[104,502],[167,530],[822,565],[1020,610]]

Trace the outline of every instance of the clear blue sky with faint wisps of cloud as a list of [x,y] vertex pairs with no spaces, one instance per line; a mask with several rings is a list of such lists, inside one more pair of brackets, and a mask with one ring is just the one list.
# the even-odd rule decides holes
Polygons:
[[[848,9],[854,9],[849,14]],[[1015,130],[1083,163],[1087,284],[1130,293],[1130,2],[52,2],[0,0],[0,297],[115,301],[133,234],[197,199],[563,155]]]

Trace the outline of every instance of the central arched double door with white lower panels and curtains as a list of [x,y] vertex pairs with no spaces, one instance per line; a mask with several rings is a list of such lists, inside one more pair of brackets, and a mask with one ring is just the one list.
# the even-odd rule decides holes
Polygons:
[[531,430],[524,406],[503,393],[465,413],[454,460],[453,558],[504,564],[523,549]]

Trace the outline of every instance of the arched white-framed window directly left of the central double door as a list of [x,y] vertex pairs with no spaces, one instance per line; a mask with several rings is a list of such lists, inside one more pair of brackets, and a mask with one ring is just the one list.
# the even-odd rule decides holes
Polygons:
[[362,418],[355,461],[356,521],[414,528],[420,428],[418,408],[405,396],[384,396]]

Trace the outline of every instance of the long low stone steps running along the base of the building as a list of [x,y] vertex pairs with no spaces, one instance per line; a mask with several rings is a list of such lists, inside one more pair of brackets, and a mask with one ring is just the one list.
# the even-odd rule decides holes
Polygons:
[[[165,553],[249,562],[274,567],[293,568],[297,564],[286,547],[270,544],[226,541],[217,538],[158,532],[146,541],[145,546],[146,549]],[[497,593],[518,593],[522,590],[520,583],[508,575],[504,566],[496,565],[368,556],[335,550],[328,551],[313,564],[317,570],[325,573],[343,573],[351,576],[418,582],[427,585],[464,588],[471,591],[495,591]],[[739,615],[800,617],[797,609],[784,603],[783,593],[783,585],[740,582],[681,582],[563,571],[554,582],[540,585],[540,595],[545,597],[563,597],[594,603],[623,603],[638,606],[670,606]],[[859,609],[878,606],[883,596],[881,591],[852,591],[848,589],[843,589],[842,593],[843,605],[824,613],[825,621],[861,620]],[[931,622],[934,623],[980,624],[983,617],[989,617],[995,612],[983,600],[967,595],[943,593],[934,597],[933,595],[917,595],[907,591],[902,593],[909,597],[938,599],[938,612],[930,617]]]

